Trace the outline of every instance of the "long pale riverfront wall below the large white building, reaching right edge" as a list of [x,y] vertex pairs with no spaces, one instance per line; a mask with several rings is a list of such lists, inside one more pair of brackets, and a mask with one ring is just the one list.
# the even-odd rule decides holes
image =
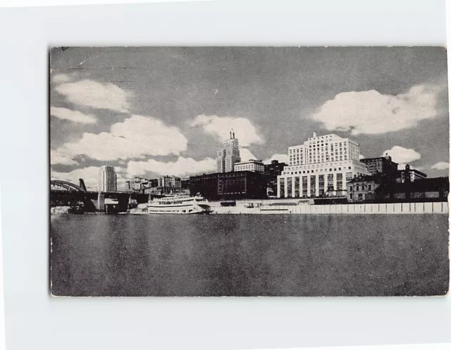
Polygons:
[[290,214],[447,214],[447,202],[260,206],[259,213]]

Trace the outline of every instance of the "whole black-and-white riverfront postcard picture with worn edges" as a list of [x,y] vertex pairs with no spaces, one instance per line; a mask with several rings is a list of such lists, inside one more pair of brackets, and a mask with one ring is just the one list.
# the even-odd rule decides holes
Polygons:
[[49,49],[52,296],[443,296],[440,46]]

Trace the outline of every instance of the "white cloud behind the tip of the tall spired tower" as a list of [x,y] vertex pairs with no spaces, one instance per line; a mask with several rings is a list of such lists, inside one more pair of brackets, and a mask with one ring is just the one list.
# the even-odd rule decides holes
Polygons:
[[230,137],[230,129],[235,131],[235,137],[239,139],[240,146],[262,144],[263,139],[258,135],[257,129],[247,118],[218,117],[218,115],[197,115],[191,123],[192,127],[202,126],[204,132],[213,135],[218,141],[223,142]]

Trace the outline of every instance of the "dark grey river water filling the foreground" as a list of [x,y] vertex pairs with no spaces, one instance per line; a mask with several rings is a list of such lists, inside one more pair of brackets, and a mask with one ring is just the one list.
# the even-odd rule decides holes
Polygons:
[[447,215],[52,215],[60,296],[447,292]]

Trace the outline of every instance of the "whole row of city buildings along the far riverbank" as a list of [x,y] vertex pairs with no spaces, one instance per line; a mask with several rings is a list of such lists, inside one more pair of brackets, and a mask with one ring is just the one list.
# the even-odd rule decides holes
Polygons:
[[[171,194],[189,192],[213,201],[236,199],[314,199],[314,203],[443,200],[447,198],[447,177],[427,179],[419,170],[398,170],[385,156],[360,158],[360,146],[335,134],[313,133],[306,142],[288,147],[288,164],[276,159],[264,164],[259,159],[241,161],[238,139],[230,130],[216,157],[216,173],[180,179],[166,175],[154,179],[133,176],[128,192]],[[103,166],[99,192],[115,192],[116,173]]]

